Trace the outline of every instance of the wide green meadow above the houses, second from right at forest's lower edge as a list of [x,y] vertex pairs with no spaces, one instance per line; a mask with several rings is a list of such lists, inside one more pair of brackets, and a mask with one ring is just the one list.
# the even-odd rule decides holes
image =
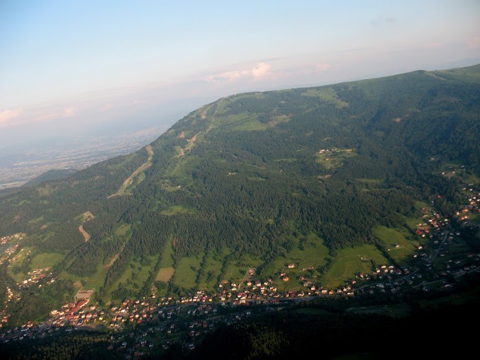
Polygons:
[[374,245],[344,248],[336,253],[332,266],[322,275],[322,285],[334,289],[358,272],[371,273],[373,265],[387,265],[388,261]]

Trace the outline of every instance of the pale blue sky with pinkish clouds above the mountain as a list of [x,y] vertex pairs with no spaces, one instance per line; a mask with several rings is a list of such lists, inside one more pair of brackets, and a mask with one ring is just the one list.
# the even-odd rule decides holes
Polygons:
[[0,151],[223,96],[480,63],[480,1],[0,0]]

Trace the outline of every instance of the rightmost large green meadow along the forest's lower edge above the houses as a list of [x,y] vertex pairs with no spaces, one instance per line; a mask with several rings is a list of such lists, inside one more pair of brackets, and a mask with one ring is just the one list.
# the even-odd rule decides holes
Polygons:
[[420,245],[416,240],[409,240],[410,236],[406,229],[376,226],[373,233],[380,239],[390,256],[402,265],[409,262],[418,245]]

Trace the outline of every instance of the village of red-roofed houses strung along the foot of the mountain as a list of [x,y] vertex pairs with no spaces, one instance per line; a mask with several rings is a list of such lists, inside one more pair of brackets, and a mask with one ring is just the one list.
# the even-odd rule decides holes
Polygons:
[[[213,294],[201,290],[178,298],[151,294],[142,299],[124,299],[117,306],[108,308],[93,301],[93,290],[81,290],[76,294],[75,301],[52,310],[47,321],[40,324],[28,321],[18,327],[6,328],[0,333],[0,344],[47,337],[58,332],[101,328],[111,333],[108,349],[130,359],[168,349],[172,344],[180,344],[183,351],[188,352],[221,324],[235,323],[300,301],[377,293],[403,294],[411,289],[449,291],[455,286],[456,279],[469,272],[477,272],[480,263],[480,254],[472,252],[462,254],[461,258],[450,256],[450,250],[455,248],[457,239],[462,235],[462,228],[473,226],[469,222],[470,216],[480,212],[479,194],[472,187],[464,187],[462,194],[465,203],[456,212],[455,229],[450,219],[432,209],[422,209],[424,222],[418,223],[415,234],[426,240],[423,241],[426,245],[418,246],[412,253],[409,267],[379,265],[370,273],[356,274],[355,279],[337,289],[326,289],[300,276],[298,280],[303,282],[304,289],[298,291],[278,291],[273,279],[255,279],[254,269],[249,269],[241,283],[218,284],[218,291]],[[16,238],[20,237],[16,234]],[[8,240],[11,237],[1,238],[4,245]],[[5,250],[6,259],[9,249]],[[294,263],[288,263],[285,270],[276,276],[287,282],[290,280],[288,269],[295,267]],[[17,284],[18,289],[39,281],[42,284],[54,281],[49,268],[32,270],[28,276]],[[18,301],[18,293],[10,287],[7,292],[6,302]],[[5,310],[1,317],[0,325],[6,325],[8,314]]]

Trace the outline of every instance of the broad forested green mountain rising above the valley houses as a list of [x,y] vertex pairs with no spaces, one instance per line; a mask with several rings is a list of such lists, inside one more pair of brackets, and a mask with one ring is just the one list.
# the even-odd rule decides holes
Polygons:
[[105,304],[415,271],[417,224],[452,218],[478,185],[479,79],[476,65],[232,95],[135,153],[0,198],[11,321],[79,289]]

